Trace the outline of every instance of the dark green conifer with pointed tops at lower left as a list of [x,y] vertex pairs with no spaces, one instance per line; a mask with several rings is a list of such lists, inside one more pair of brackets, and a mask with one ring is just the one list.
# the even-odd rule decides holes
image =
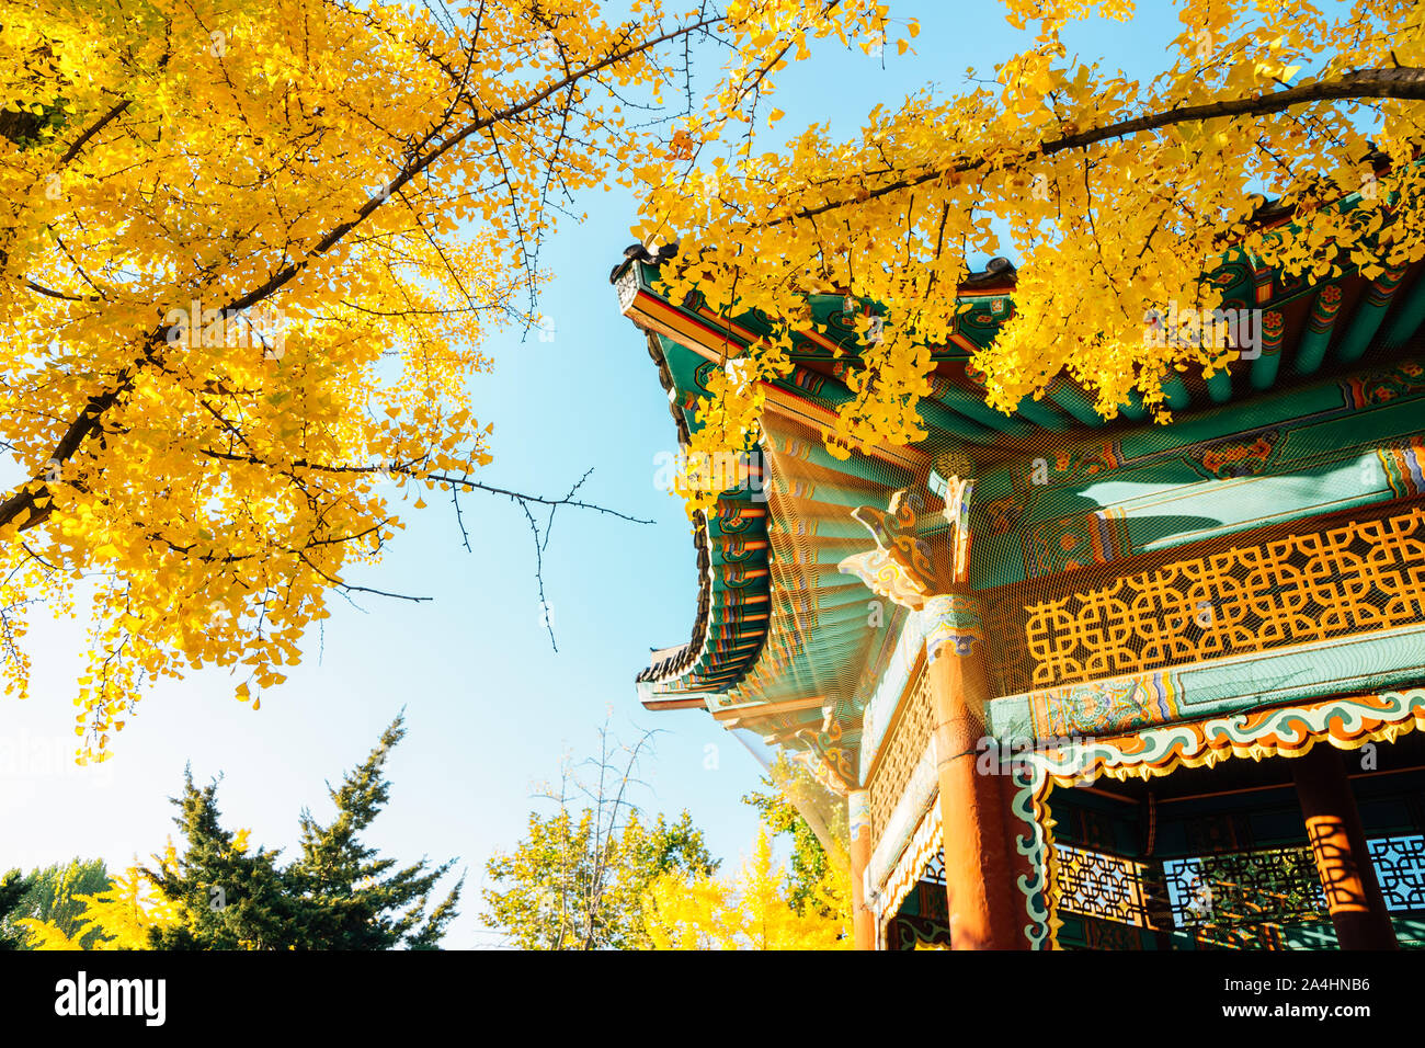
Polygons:
[[[430,893],[452,863],[422,860],[393,870],[361,843],[389,798],[385,764],[405,736],[403,719],[382,733],[366,761],[331,790],[335,818],[322,826],[304,810],[301,854],[288,865],[278,851],[249,851],[245,834],[222,828],[217,783],[198,788],[188,774],[174,820],[187,848],[147,871],[187,918],[154,928],[158,950],[413,950],[437,948],[456,917],[460,884],[426,913]],[[157,857],[155,857],[157,858]]]

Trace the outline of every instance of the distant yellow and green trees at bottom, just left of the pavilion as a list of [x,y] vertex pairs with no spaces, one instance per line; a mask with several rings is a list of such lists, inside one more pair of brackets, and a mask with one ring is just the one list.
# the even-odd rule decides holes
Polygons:
[[[597,757],[564,760],[559,786],[542,793],[553,813],[530,813],[524,840],[489,861],[484,923],[523,950],[849,948],[849,863],[835,798],[778,760],[768,790],[744,797],[762,816],[752,856],[718,877],[721,861],[687,811],[646,823],[628,798],[650,737],[618,746],[606,724]],[[781,834],[792,838],[789,870],[772,854]]]

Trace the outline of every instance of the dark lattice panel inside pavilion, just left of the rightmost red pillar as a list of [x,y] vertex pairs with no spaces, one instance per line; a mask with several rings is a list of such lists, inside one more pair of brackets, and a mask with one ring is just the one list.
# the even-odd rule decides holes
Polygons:
[[1163,874],[1180,928],[1330,920],[1310,847],[1177,858]]

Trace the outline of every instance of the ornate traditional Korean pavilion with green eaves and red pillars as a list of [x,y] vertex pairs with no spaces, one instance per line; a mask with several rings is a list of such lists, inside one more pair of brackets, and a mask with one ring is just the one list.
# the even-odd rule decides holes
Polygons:
[[[846,798],[859,948],[1425,945],[1425,264],[1206,278],[1260,355],[1174,378],[1167,426],[1063,378],[986,406],[1002,260],[921,443],[822,443],[866,304],[814,297],[765,385],[761,472],[695,520],[691,637],[638,692]],[[611,279],[685,443],[765,318],[667,301],[658,260]]]

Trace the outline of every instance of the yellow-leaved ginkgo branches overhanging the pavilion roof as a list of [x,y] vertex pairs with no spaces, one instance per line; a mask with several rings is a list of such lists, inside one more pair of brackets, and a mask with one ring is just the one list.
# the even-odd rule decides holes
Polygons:
[[[1177,9],[1150,83],[1064,43],[1073,20],[1133,17],[1131,0],[1003,0],[1029,30],[1022,53],[992,80],[970,71],[959,94],[928,88],[876,106],[851,140],[818,124],[764,153],[751,125],[711,108],[688,117],[684,158],[638,165],[638,232],[681,247],[663,288],[779,322],[710,379],[690,461],[755,439],[757,382],[789,371],[792,331],[817,327],[812,294],[846,295],[859,315],[855,395],[826,429],[845,456],[923,438],[929,348],[949,341],[955,288],[976,258],[1012,255],[1017,267],[1013,317],[972,361],[993,406],[1013,411],[1067,375],[1107,418],[1141,395],[1166,422],[1166,376],[1211,372],[1237,352],[1146,339],[1146,318],[1174,302],[1217,308],[1221,289],[1203,275],[1224,251],[1311,281],[1344,267],[1375,278],[1425,257],[1419,4],[1355,0],[1330,16],[1304,0]],[[875,11],[882,38],[911,50],[919,27],[886,4]],[[1330,207],[1347,198],[1352,207]],[[690,512],[717,496],[685,488]]]

